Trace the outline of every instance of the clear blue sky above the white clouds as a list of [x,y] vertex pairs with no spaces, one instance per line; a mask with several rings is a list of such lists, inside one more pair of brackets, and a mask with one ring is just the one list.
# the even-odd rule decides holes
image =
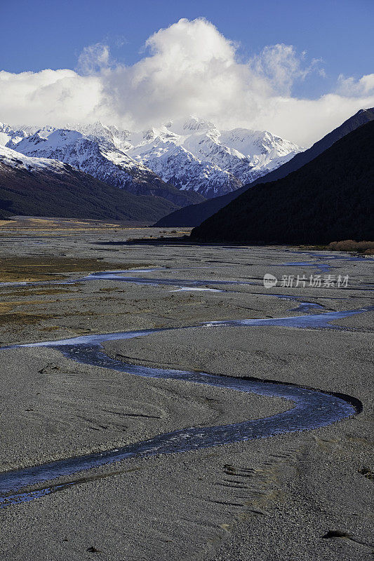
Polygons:
[[107,43],[120,62],[142,57],[146,39],[180,18],[204,17],[233,41],[238,55],[286,43],[323,60],[299,95],[317,95],[339,74],[373,72],[373,0],[3,0],[0,68],[8,72],[72,68],[81,50]]

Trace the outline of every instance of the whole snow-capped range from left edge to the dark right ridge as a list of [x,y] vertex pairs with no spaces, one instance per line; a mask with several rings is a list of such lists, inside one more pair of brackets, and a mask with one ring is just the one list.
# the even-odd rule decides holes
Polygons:
[[0,143],[22,154],[57,159],[115,187],[178,205],[236,191],[300,151],[267,131],[219,130],[196,117],[141,133],[98,122],[36,131],[3,125],[1,134]]

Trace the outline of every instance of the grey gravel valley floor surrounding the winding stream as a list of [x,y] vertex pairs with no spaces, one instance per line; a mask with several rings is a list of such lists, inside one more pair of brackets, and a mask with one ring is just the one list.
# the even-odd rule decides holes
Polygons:
[[[41,284],[0,285],[0,346],[373,305],[370,258],[168,241],[185,234],[88,221],[1,222],[0,283]],[[152,268],[161,270],[144,271]],[[80,280],[121,269],[141,269],[131,275],[154,282]],[[305,287],[279,281],[265,288],[265,273],[308,280]],[[321,275],[322,285],[326,275],[349,281],[311,287],[311,275]],[[180,290],[189,287],[215,290]],[[364,311],[334,320],[341,329],[189,327],[105,343],[109,356],[127,363],[345,393],[361,400],[363,411],[314,431],[135,457],[77,474],[76,485],[0,509],[0,559],[369,560],[370,316]],[[292,405],[80,364],[52,348],[0,349],[0,360],[1,472],[112,450],[176,428],[269,417]]]

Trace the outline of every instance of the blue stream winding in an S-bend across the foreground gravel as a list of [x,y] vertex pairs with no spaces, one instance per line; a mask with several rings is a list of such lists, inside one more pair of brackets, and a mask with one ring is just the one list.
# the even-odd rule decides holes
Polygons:
[[[276,381],[267,381],[250,377],[229,377],[206,372],[191,372],[185,370],[161,369],[142,365],[123,363],[105,354],[102,344],[107,341],[145,337],[150,334],[164,331],[188,329],[189,327],[219,328],[222,326],[255,327],[255,326],[282,326],[301,328],[328,328],[341,329],[332,325],[332,320],[347,318],[356,313],[363,313],[374,309],[374,306],[351,311],[335,311],[307,316],[293,316],[287,318],[267,318],[248,320],[225,320],[201,323],[188,327],[165,327],[162,329],[138,330],[131,332],[116,332],[86,335],[60,341],[46,341],[31,344],[11,345],[0,350],[16,349],[22,347],[45,346],[58,349],[63,356],[78,363],[110,368],[126,374],[140,377],[159,379],[174,379],[188,381],[193,384],[227,388],[232,391],[255,393],[260,396],[272,396],[290,400],[292,407],[279,414],[244,421],[241,423],[224,426],[193,426],[182,428],[178,431],[157,435],[148,440],[127,445],[116,450],[108,450],[95,454],[86,454],[81,457],[72,457],[53,461],[48,464],[32,466],[0,474],[0,508],[12,503],[31,501],[40,496],[50,494],[69,485],[75,485],[81,474],[91,468],[112,464],[113,462],[131,457],[147,457],[155,454],[173,454],[188,452],[201,448],[214,447],[234,442],[252,440],[254,438],[267,438],[282,433],[312,430],[327,426],[335,421],[352,417],[361,410],[361,403],[354,398],[341,394],[328,393],[283,384]],[[74,475],[72,480],[65,483],[53,482],[62,475]],[[37,489],[27,489],[28,486],[38,485]]]

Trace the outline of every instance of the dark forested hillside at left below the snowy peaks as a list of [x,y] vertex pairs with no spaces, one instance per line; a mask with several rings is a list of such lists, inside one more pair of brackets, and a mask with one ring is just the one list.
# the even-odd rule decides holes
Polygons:
[[178,208],[156,196],[110,187],[65,165],[64,173],[16,169],[0,162],[0,217],[9,215],[148,222]]

